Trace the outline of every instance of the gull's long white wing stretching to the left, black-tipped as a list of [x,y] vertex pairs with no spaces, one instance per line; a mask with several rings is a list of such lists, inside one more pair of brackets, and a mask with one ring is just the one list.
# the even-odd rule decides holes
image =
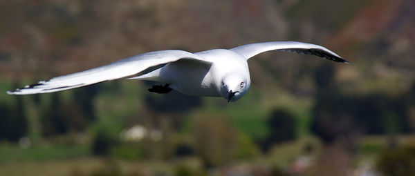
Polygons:
[[47,81],[39,81],[37,84],[28,85],[24,88],[7,91],[8,94],[23,95],[46,92],[57,92],[136,75],[147,68],[160,64],[177,61],[178,59],[195,59],[206,63],[203,58],[183,50],[162,50],[147,52],[142,55],[128,57],[120,61],[110,63],[106,66],[92,68],[83,72],[75,72],[70,75],[54,77]]

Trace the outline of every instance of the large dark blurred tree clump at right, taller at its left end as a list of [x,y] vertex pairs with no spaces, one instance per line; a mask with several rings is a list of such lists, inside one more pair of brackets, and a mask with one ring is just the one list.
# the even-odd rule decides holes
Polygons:
[[324,64],[315,71],[317,95],[311,130],[325,142],[356,133],[408,133],[407,103],[402,97],[385,94],[344,95],[333,80],[334,70]]

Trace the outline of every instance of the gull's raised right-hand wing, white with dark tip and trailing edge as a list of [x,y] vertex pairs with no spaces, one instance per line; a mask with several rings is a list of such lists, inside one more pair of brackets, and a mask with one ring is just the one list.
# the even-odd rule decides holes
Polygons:
[[353,64],[347,61],[346,59],[343,59],[339,55],[336,55],[334,52],[327,48],[317,46],[311,43],[302,43],[297,41],[271,41],[264,43],[252,43],[244,46],[238,46],[230,50],[237,52],[239,55],[242,55],[247,60],[255,55],[258,55],[261,52],[266,52],[270,50],[284,50],[290,52],[297,52],[299,54],[305,55],[316,55],[332,61]]

